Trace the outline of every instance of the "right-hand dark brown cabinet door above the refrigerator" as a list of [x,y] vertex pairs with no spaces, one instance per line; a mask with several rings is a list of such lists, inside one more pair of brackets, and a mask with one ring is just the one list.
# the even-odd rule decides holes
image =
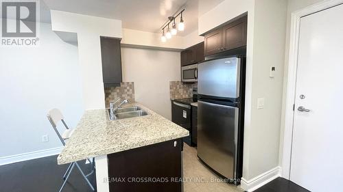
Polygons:
[[224,51],[246,46],[247,17],[235,20],[222,28]]

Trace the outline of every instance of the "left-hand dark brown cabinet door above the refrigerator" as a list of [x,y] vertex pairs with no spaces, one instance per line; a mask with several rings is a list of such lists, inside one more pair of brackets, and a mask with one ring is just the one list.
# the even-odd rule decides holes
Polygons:
[[219,53],[222,49],[222,28],[207,33],[204,39],[204,55]]

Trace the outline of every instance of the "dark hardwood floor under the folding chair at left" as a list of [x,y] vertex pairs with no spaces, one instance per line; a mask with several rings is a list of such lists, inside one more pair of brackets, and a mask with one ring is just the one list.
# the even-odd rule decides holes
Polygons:
[[[67,165],[57,165],[57,156],[0,166],[0,192],[58,192]],[[84,174],[91,171],[91,164],[79,165]],[[88,177],[96,188],[95,174]],[[91,192],[91,188],[75,166],[63,192]]]

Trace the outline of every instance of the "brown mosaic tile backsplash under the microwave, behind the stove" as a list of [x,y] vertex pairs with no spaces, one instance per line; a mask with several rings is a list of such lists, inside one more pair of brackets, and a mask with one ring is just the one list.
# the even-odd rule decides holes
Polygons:
[[175,98],[191,98],[193,96],[192,89],[198,83],[182,83],[181,81],[169,81],[170,99]]

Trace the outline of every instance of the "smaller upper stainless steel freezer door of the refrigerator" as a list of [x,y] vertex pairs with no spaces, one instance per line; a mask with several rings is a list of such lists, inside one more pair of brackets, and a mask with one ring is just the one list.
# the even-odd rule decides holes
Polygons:
[[230,57],[198,64],[198,94],[239,98],[241,59]]

